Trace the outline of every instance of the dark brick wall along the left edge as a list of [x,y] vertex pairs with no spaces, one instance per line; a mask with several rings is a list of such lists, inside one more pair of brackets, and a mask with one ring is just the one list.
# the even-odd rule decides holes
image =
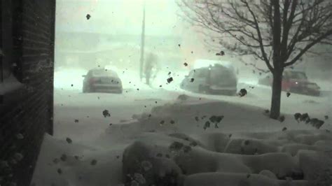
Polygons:
[[53,133],[55,0],[2,3],[11,25],[5,29],[10,40],[2,42],[11,50],[6,62],[22,87],[0,104],[0,185],[27,186],[43,134]]

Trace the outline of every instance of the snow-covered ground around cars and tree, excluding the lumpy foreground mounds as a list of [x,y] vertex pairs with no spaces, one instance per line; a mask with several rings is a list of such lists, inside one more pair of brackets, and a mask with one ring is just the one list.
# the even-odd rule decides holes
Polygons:
[[[320,97],[291,94],[287,97],[286,93],[283,92],[282,114],[285,120],[279,122],[271,120],[264,113],[265,109],[270,108],[270,88],[258,86],[254,80],[249,80],[249,82],[248,80],[240,80],[239,88],[246,88],[247,96],[212,96],[180,90],[179,83],[186,72],[172,72],[170,76],[174,78],[174,81],[167,84],[166,79],[170,76],[167,75],[168,71],[162,71],[153,85],[149,87],[139,82],[137,73],[124,70],[118,71],[125,90],[123,94],[83,94],[81,93],[83,81],[81,76],[85,73],[86,71],[82,69],[63,69],[55,72],[55,134],[54,136],[46,135],[43,142],[32,180],[36,186],[52,184],[64,186],[119,185],[123,183],[123,151],[135,147],[135,145],[130,146],[134,141],[143,141],[144,145],[148,142],[148,145],[160,146],[161,150],[164,150],[162,151],[162,157],[164,157],[167,153],[165,148],[170,143],[180,141],[185,144],[186,140],[178,138],[188,136],[185,139],[193,138],[198,143],[197,148],[192,147],[194,149],[192,155],[193,158],[200,157],[202,159],[195,159],[195,162],[209,162],[216,158],[219,160],[213,161],[220,164],[228,162],[229,158],[230,162],[234,161],[237,164],[234,169],[230,169],[232,166],[226,166],[227,168],[221,166],[219,169],[224,169],[223,171],[214,169],[214,171],[210,170],[214,172],[210,174],[193,174],[185,178],[184,185],[202,185],[200,183],[202,180],[209,179],[211,180],[209,185],[224,182],[237,186],[240,183],[236,183],[234,180],[241,180],[242,177],[247,177],[248,173],[253,173],[251,178],[256,180],[249,182],[252,185],[258,186],[263,183],[282,185],[284,183],[280,181],[271,182],[271,180],[266,180],[268,178],[261,176],[265,172],[268,172],[272,177],[276,173],[285,173],[285,176],[289,176],[291,171],[287,170],[292,169],[293,166],[297,169],[307,170],[307,167],[299,168],[298,166],[302,164],[299,164],[298,161],[300,158],[305,158],[305,155],[310,154],[310,152],[300,150],[314,149],[319,152],[322,149],[331,150],[326,149],[328,145],[323,145],[323,148],[319,146],[320,143],[317,145],[318,141],[322,140],[321,143],[331,145],[331,133],[328,132],[331,131],[330,120],[324,118],[325,115],[331,115],[331,94]],[[162,86],[160,87],[160,85]],[[251,88],[252,86],[254,88]],[[181,94],[187,96],[180,96]],[[104,117],[104,110],[108,110],[110,116]],[[317,130],[310,124],[297,122],[293,117],[294,113],[308,113],[310,117],[317,117],[324,120],[325,123],[321,129]],[[223,116],[223,120],[217,125],[210,123],[210,127],[207,127],[207,122],[212,116]],[[308,131],[293,134],[292,130],[294,129]],[[244,132],[258,134],[250,136]],[[259,132],[269,133],[260,134]],[[167,136],[169,134],[173,134],[172,137]],[[272,170],[270,167],[269,169],[264,168],[264,170],[268,169],[272,173],[265,171],[259,175],[254,174],[257,171],[263,171],[262,168],[258,170],[256,166],[250,165],[249,162],[252,164],[253,161],[258,161],[256,158],[252,157],[251,159],[244,155],[228,155],[229,153],[237,154],[237,152],[216,149],[226,148],[221,143],[227,143],[228,147],[232,146],[232,141],[228,140],[230,134],[235,138],[233,140],[234,147],[239,145],[236,141],[240,141],[239,147],[243,147],[242,143],[247,144],[245,140],[248,138],[254,141],[252,143],[256,144],[254,148],[247,149],[250,145],[246,146],[245,152],[255,151],[257,147],[263,145],[264,148],[258,149],[261,150],[257,152],[258,154],[263,154],[263,152],[295,153],[296,157],[294,158],[282,157],[284,153],[269,157],[274,159],[289,158],[289,164],[293,166],[288,166],[288,168],[277,166],[280,167],[280,170],[286,170],[284,172]],[[223,135],[227,136],[227,140],[223,140]],[[282,140],[284,135],[288,136],[286,141]],[[270,140],[268,145],[261,142],[264,139]],[[309,144],[307,141],[310,139],[311,143]],[[285,150],[287,145],[293,143],[296,143],[297,146],[290,149],[298,149],[296,152]],[[298,143],[302,143],[302,146]],[[306,145],[310,145],[310,147]],[[214,158],[209,158],[210,155]],[[171,156],[171,162],[165,158],[162,160],[165,162],[154,159],[153,161],[156,162],[153,166],[160,163],[174,164],[175,162],[178,164],[177,158],[184,157],[186,156]],[[128,158],[125,159],[126,162],[130,161],[130,157]],[[212,164],[214,163],[211,162]],[[200,167],[208,165],[209,163],[200,164]],[[251,171],[245,171],[247,169]],[[257,170],[252,171],[253,169]],[[195,173],[208,172],[203,169],[198,170],[197,167],[193,168],[193,171],[195,170]],[[236,175],[235,172],[240,174]],[[227,175],[227,173],[231,174]],[[296,184],[301,185],[298,182]]]

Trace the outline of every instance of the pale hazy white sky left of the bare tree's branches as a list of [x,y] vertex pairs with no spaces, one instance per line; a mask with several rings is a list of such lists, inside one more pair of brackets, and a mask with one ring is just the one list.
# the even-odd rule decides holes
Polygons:
[[[56,27],[57,31],[140,34],[142,10],[143,0],[58,0]],[[175,0],[146,0],[146,34],[182,34],[186,29],[177,13]]]

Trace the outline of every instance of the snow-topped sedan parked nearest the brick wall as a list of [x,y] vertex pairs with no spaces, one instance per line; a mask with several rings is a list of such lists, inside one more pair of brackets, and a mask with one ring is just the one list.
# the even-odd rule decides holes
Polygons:
[[83,75],[83,93],[87,92],[123,92],[122,82],[115,71],[92,69]]

